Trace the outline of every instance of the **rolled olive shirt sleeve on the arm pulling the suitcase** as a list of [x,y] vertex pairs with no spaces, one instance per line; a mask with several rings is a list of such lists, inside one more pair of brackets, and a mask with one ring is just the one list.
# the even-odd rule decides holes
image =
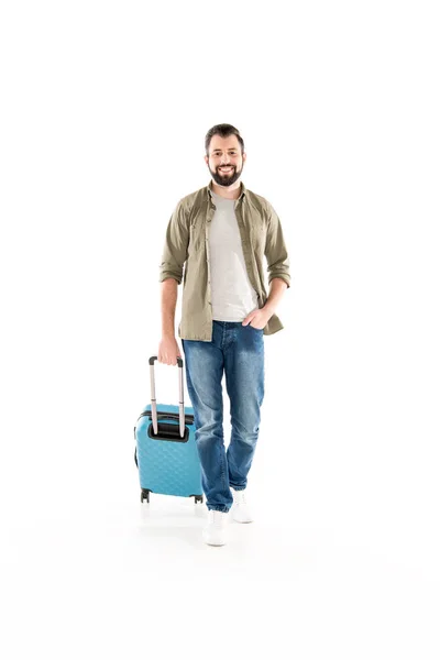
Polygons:
[[166,229],[165,244],[160,266],[160,282],[168,277],[182,283],[184,264],[188,256],[188,213],[183,199],[177,204]]

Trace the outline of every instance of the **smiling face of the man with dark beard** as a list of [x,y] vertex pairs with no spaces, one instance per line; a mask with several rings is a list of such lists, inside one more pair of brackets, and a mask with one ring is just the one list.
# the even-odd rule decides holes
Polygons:
[[237,135],[213,135],[209,145],[209,157],[205,156],[209,172],[219,186],[232,186],[240,177],[246,154],[241,153]]

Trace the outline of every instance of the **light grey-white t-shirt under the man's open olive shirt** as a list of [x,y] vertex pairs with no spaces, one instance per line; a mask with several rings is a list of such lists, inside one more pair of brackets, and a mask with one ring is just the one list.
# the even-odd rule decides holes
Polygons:
[[212,193],[216,205],[209,229],[212,319],[243,321],[257,309],[257,296],[244,263],[234,199]]

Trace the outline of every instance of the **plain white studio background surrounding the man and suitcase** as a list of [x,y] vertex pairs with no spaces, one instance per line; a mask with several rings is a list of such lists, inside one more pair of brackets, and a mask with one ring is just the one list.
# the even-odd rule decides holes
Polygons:
[[[439,658],[438,35],[426,1],[2,3],[3,657]],[[292,287],[260,518],[212,549],[141,508],[133,426],[220,122]]]

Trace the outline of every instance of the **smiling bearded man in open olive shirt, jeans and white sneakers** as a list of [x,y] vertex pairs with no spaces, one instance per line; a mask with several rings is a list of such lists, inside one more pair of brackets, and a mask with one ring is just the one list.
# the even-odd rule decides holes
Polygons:
[[[245,487],[264,397],[263,336],[283,329],[275,309],[290,286],[290,276],[276,212],[240,182],[246,160],[240,132],[231,124],[217,124],[208,131],[205,147],[212,178],[208,186],[180,199],[166,231],[157,359],[175,365],[177,356],[182,358],[174,319],[183,279],[178,337],[208,507],[204,540],[222,546],[231,507],[238,522],[253,519]],[[222,426],[223,372],[231,408],[228,451]]]

